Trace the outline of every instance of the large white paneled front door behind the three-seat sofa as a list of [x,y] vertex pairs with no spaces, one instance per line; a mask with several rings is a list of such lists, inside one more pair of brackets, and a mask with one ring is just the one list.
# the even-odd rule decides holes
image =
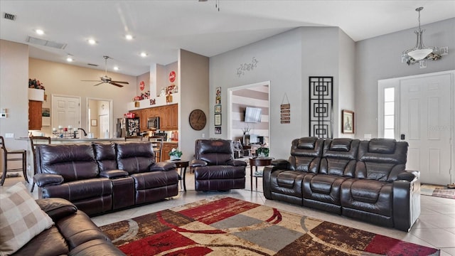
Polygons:
[[451,183],[450,108],[450,74],[400,79],[400,137],[410,144],[406,169],[420,171],[422,183]]

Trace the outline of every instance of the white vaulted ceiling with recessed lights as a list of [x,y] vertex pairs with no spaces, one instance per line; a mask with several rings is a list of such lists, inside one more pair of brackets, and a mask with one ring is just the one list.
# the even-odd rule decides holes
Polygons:
[[[424,6],[423,28],[455,17],[455,1],[444,0],[1,0],[0,38],[29,44],[32,58],[65,63],[71,55],[72,65],[104,69],[102,56],[108,55],[109,71],[141,75],[152,63],[175,62],[179,48],[210,57],[299,26],[337,26],[354,41],[415,28],[419,6]],[[132,40],[125,39],[127,34]],[[66,46],[39,46],[28,36]]]

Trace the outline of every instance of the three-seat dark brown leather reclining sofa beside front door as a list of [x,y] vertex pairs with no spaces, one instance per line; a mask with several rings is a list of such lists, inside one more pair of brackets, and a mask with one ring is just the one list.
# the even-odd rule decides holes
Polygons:
[[294,139],[289,160],[264,168],[264,196],[409,231],[420,214],[418,171],[407,142]]

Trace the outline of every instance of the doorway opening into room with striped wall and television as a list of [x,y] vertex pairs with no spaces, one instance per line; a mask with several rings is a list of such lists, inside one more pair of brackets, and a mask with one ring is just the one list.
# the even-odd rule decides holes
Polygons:
[[[243,85],[229,89],[230,105],[230,139],[241,141],[244,133],[254,142],[259,142],[258,137],[264,137],[263,141],[269,141],[269,82],[259,82],[252,85]],[[247,114],[247,108],[249,111]],[[260,114],[260,116],[258,116]],[[254,119],[254,120],[253,120]],[[228,120],[229,121],[229,120]],[[245,122],[247,121],[247,122]]]

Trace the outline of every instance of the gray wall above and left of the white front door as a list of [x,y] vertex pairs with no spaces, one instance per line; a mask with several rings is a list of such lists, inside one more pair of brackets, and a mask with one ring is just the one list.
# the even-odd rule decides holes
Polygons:
[[449,46],[449,55],[427,60],[427,68],[401,63],[402,51],[415,46],[415,28],[355,43],[355,137],[378,136],[378,80],[455,69],[455,18],[422,28],[426,46]]

